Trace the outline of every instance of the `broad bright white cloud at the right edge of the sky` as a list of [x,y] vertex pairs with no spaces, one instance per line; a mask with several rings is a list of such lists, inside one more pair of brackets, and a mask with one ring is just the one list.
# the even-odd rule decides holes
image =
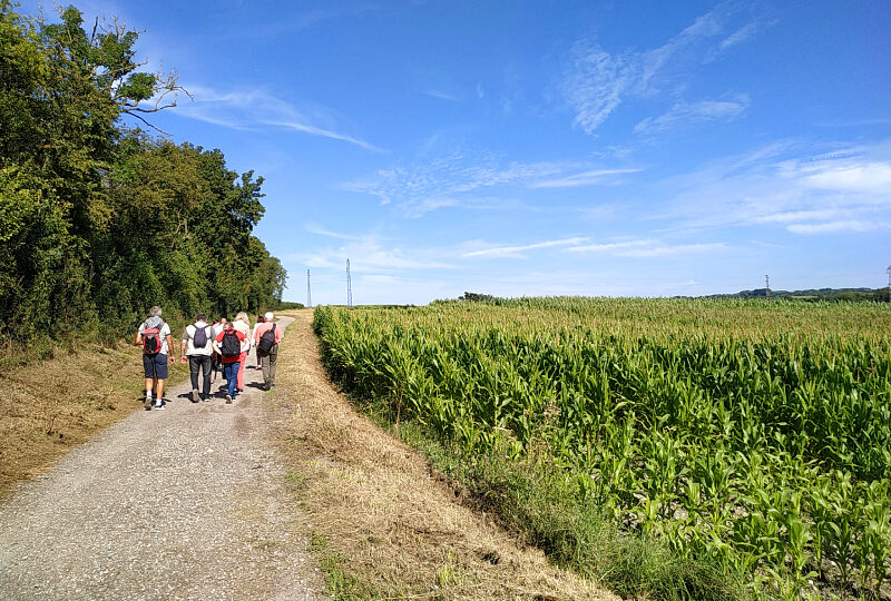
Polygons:
[[891,223],[891,144],[826,151],[775,144],[656,185],[675,226],[780,226],[793,234],[875,231]]

